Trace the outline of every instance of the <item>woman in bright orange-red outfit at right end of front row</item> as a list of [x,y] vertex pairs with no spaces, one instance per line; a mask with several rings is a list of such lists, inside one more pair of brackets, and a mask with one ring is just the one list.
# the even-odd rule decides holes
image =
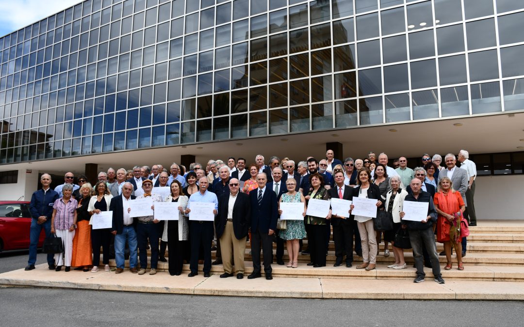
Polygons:
[[462,263],[462,237],[461,226],[464,219],[463,213],[466,209],[464,200],[459,191],[453,189],[453,183],[449,177],[442,177],[439,181],[438,192],[434,197],[435,210],[439,214],[437,218],[436,240],[444,243],[447,264],[445,270],[451,269],[451,246],[455,248],[458,269],[464,270]]

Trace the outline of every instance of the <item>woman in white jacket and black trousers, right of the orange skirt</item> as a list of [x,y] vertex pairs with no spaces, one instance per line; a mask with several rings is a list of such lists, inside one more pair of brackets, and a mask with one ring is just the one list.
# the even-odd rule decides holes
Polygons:
[[[91,216],[95,213],[107,211],[111,204],[113,196],[104,181],[95,184],[93,189],[93,195],[89,201],[88,211]],[[91,217],[93,218],[93,217]],[[111,228],[101,228],[91,230],[91,244],[93,245],[93,269],[92,273],[98,272],[98,265],[100,264],[100,246],[103,250],[102,263],[104,264],[104,270],[108,272],[109,267],[109,248],[111,245]]]

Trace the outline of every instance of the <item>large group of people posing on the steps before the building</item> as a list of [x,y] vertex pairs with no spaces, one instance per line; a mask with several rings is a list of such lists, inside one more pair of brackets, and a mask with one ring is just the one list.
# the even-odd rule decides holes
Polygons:
[[[423,166],[411,169],[406,156],[389,166],[385,153],[377,157],[374,152],[364,159],[347,157],[340,161],[328,150],[325,159],[318,161],[310,156],[297,164],[287,157],[280,160],[272,156],[269,165],[263,155],[257,155],[253,164],[247,164],[243,157],[228,157],[225,162],[210,160],[205,166],[192,163],[189,169],[173,163],[169,171],[160,164],[152,168],[136,165],[132,170],[109,168],[107,173],[100,172],[94,186],[85,175],[78,176],[79,185],[73,184],[74,175],[68,172],[64,184],[54,190],[50,188],[51,176],[42,174],[42,188],[35,191],[30,202],[33,220],[25,270],[35,268],[42,229],[46,237],[54,233],[64,244],[63,253],[47,256],[49,269],[56,271],[65,266],[69,272],[73,266],[76,270],[97,273],[102,265],[105,271],[110,271],[110,249],[114,244],[116,274],[124,272],[128,253],[130,272],[144,275],[150,251],[150,275],[157,273],[159,261],[168,261],[169,274],[178,276],[185,261],[189,263],[189,277],[198,275],[198,265],[203,263],[205,277],[210,276],[212,264],[222,264],[221,278],[236,275],[242,279],[249,241],[253,272],[247,278],[262,276],[262,261],[268,280],[272,279],[274,242],[277,264],[286,264],[283,262],[286,245],[287,267],[298,267],[300,253],[310,256],[309,266],[324,267],[331,232],[335,267],[345,262],[351,268],[355,252],[362,257],[357,269],[375,269],[379,245],[384,242],[383,255],[390,255],[391,244],[395,257],[388,268],[407,268],[404,250],[395,244],[399,232],[407,230],[417,268],[414,282],[424,280],[423,268],[427,266],[432,268],[434,280],[442,284],[435,234],[436,241],[444,243],[444,251],[440,253],[446,256],[444,269],[452,268],[454,248],[457,268],[463,270],[467,227],[476,225],[473,202],[476,167],[465,150],[458,155],[461,167],[456,166],[457,159],[452,153],[444,156],[445,167],[440,166],[442,157],[438,154],[423,154],[421,159]],[[156,192],[158,187],[166,187],[169,195]],[[152,210],[156,202],[177,202],[178,210],[172,213],[176,218],[160,221],[154,215],[134,217],[130,201],[147,197],[152,199]],[[377,215],[373,216],[389,217],[392,228],[375,230],[376,218],[353,215],[354,204],[348,212],[330,209],[323,217],[308,214],[312,199],[332,198],[376,200],[373,203]],[[404,220],[406,201],[428,202],[427,217],[422,221]],[[189,219],[198,202],[212,204],[214,221]],[[281,204],[293,202],[303,204],[303,220],[280,220]],[[112,212],[111,227],[93,229],[93,215],[104,211]],[[380,215],[381,211],[384,215]],[[307,244],[302,242],[305,238]],[[217,258],[212,263],[211,251],[215,249]]]

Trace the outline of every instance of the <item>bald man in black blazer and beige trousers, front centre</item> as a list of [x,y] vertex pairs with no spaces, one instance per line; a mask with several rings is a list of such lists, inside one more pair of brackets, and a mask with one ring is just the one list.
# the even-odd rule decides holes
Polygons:
[[251,223],[249,195],[238,190],[240,182],[230,178],[230,193],[219,197],[219,209],[215,217],[216,238],[220,240],[224,273],[220,278],[233,276],[231,256],[235,258],[237,279],[244,278],[244,254],[246,251],[247,230]]

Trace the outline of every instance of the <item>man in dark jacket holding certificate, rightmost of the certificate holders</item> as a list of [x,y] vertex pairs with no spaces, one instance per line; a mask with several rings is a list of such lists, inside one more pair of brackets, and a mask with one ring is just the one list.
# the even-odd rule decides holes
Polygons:
[[[409,241],[413,247],[413,257],[417,267],[417,277],[413,283],[424,281],[424,263],[422,257],[422,245],[425,245],[431,259],[433,276],[439,284],[444,284],[444,279],[440,273],[439,256],[436,253],[435,234],[433,233],[433,224],[436,222],[436,211],[433,205],[433,199],[428,192],[421,190],[422,182],[418,178],[411,180],[411,194],[404,199],[404,206],[400,212],[402,228],[408,228]],[[410,202],[418,202],[419,205],[410,206]],[[428,204],[428,209],[421,211],[422,204]],[[409,210],[408,210],[409,208]]]

